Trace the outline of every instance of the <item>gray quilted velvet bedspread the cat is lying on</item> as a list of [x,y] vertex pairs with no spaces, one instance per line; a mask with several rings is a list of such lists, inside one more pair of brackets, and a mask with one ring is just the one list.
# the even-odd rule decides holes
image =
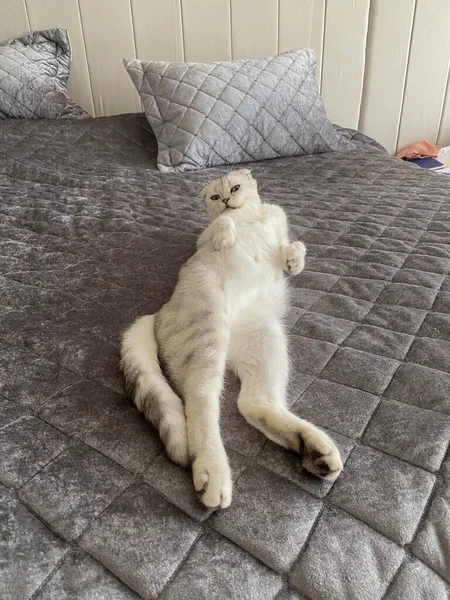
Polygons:
[[248,426],[228,378],[231,507],[122,393],[118,340],[170,296],[223,169],[163,175],[142,115],[0,126],[2,600],[444,600],[450,582],[450,178],[358,151],[254,165],[308,247],[292,410],[331,485]]

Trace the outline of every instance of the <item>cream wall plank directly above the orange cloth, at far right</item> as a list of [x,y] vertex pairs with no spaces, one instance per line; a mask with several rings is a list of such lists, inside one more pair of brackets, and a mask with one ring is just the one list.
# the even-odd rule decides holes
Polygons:
[[398,149],[423,139],[435,143],[450,58],[450,2],[418,0],[400,120]]

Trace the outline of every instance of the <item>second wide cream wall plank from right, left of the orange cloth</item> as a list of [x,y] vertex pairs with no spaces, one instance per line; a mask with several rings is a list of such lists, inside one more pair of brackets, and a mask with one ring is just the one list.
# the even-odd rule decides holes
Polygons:
[[415,0],[372,0],[359,130],[394,152]]

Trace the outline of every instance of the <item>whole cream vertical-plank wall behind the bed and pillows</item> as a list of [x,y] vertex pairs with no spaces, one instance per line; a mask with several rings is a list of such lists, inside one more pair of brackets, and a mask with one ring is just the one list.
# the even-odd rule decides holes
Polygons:
[[69,93],[140,110],[122,59],[212,61],[311,47],[332,121],[391,152],[450,145],[450,0],[0,0],[0,40],[65,26]]

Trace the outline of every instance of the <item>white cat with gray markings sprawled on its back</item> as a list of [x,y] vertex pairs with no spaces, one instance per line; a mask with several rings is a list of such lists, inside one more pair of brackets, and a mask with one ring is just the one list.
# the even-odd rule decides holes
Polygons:
[[305,469],[333,480],[342,470],[339,451],[326,433],[291,413],[285,400],[283,270],[300,273],[305,247],[289,243],[284,211],[261,204],[247,169],[213,181],[201,197],[212,223],[181,268],[171,299],[124,334],[121,366],[134,402],[158,428],[172,460],[192,462],[194,487],[206,506],[231,502],[219,428],[226,365],[241,380],[244,418],[299,452]]

